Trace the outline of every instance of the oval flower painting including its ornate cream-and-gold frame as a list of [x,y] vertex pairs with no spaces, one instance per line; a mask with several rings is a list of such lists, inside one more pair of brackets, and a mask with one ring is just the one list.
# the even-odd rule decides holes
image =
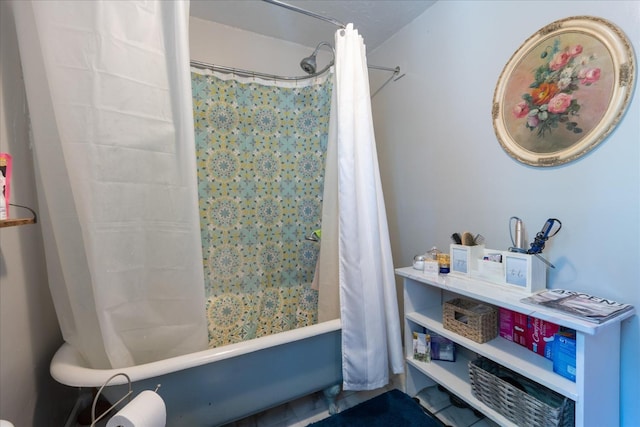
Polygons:
[[520,46],[498,79],[498,141],[532,166],[576,160],[618,124],[634,77],[631,43],[615,25],[589,16],[555,21]]

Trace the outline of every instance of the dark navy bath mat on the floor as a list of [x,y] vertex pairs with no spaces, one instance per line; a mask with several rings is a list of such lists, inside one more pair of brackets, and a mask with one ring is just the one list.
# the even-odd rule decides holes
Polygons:
[[443,427],[400,390],[391,390],[311,424],[313,427]]

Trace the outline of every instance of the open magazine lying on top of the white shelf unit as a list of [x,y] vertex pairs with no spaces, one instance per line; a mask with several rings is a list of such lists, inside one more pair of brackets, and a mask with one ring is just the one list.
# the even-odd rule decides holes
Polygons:
[[633,309],[630,304],[622,304],[610,299],[596,297],[584,292],[547,289],[521,300],[527,304],[552,308],[593,323],[602,323]]

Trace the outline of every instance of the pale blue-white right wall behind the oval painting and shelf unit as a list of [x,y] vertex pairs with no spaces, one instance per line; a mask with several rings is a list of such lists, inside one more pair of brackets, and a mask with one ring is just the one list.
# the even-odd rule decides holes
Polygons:
[[[546,24],[577,15],[615,23],[640,52],[637,1],[441,0],[369,55],[407,74],[374,98],[396,266],[447,248],[453,232],[481,233],[487,247],[506,249],[511,216],[530,239],[556,217],[563,228],[544,250],[556,265],[550,287],[640,309],[640,85],[617,129],[564,166],[518,163],[492,127],[493,91],[511,55]],[[640,426],[638,354],[636,316],[622,325],[621,420],[629,427]]]

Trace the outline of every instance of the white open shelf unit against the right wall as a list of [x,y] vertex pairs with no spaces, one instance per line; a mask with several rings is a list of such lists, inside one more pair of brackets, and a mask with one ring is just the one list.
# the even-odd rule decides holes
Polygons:
[[[557,311],[520,302],[528,294],[517,289],[468,277],[433,277],[412,267],[398,268],[404,283],[404,337],[407,351],[406,391],[415,396],[434,384],[456,394],[488,418],[504,426],[515,424],[489,408],[471,393],[469,360],[484,356],[563,396],[576,405],[576,426],[618,425],[620,397],[620,322],[631,310],[607,322],[594,324]],[[553,372],[550,360],[504,338],[484,344],[467,339],[442,325],[442,304],[457,296],[473,298],[497,307],[537,317],[576,330],[576,382]],[[414,331],[427,328],[457,344],[456,362],[413,360]]]

